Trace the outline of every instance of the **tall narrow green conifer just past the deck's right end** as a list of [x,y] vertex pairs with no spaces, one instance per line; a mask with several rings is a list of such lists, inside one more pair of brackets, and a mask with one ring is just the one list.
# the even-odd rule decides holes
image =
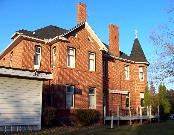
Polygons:
[[165,120],[170,113],[170,103],[167,98],[167,90],[164,84],[159,85],[158,102],[160,106],[160,117],[162,120]]

